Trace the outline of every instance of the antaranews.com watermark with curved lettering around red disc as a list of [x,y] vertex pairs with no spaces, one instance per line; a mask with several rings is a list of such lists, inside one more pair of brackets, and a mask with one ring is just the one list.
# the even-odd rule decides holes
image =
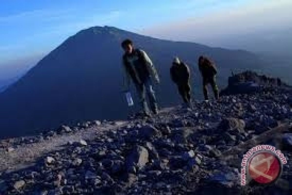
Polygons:
[[250,149],[241,163],[241,185],[254,180],[259,184],[275,182],[287,160],[274,146],[259,145]]

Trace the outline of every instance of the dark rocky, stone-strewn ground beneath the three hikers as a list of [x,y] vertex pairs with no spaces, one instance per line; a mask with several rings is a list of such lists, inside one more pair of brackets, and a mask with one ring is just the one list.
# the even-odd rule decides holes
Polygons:
[[[193,102],[151,119],[92,121],[0,143],[1,194],[292,194],[292,92]],[[279,182],[240,186],[243,155],[281,149]]]

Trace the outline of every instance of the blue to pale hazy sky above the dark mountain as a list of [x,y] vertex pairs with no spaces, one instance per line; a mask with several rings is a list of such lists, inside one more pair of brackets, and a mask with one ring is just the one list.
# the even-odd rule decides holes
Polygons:
[[291,0],[3,1],[0,72],[15,75],[31,67],[66,38],[91,26],[224,46],[220,40],[230,35],[289,24],[291,8]]

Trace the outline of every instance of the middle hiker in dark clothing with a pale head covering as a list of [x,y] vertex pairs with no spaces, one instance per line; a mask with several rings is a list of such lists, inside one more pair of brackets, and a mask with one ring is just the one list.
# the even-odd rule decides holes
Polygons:
[[191,86],[189,67],[179,58],[175,57],[170,68],[171,80],[177,84],[178,92],[183,98],[184,103],[190,106]]

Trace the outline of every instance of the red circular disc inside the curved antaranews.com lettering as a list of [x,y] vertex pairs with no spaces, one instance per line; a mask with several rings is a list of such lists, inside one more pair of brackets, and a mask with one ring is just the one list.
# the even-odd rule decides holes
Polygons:
[[256,153],[248,164],[251,178],[260,184],[268,184],[277,180],[281,173],[279,158],[270,152]]

